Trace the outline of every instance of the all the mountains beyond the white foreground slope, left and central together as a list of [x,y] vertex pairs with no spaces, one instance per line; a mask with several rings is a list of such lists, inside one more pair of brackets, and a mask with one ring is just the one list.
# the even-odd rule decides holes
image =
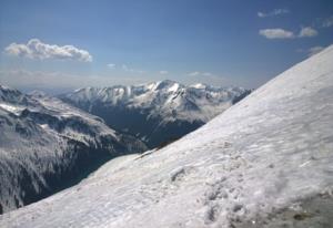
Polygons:
[[179,138],[250,92],[162,81],[52,97],[0,85],[0,214],[70,187],[119,155]]

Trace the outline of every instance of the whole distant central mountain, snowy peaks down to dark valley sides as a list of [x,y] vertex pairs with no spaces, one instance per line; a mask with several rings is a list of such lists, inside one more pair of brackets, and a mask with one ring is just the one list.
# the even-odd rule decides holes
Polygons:
[[84,87],[60,99],[155,147],[194,131],[250,92],[165,80],[135,86]]

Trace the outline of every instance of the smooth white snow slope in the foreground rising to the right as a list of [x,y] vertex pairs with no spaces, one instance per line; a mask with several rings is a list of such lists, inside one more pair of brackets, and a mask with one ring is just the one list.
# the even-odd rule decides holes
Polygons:
[[159,151],[2,215],[2,227],[330,227],[333,46]]

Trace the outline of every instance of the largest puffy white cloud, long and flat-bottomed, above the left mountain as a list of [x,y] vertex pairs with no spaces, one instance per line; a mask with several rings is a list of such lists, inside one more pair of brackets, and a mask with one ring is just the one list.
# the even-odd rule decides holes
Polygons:
[[47,44],[38,39],[31,39],[27,44],[11,43],[4,49],[4,52],[10,55],[39,60],[57,59],[82,62],[92,61],[92,56],[85,50],[78,49],[73,45],[59,46],[56,44]]

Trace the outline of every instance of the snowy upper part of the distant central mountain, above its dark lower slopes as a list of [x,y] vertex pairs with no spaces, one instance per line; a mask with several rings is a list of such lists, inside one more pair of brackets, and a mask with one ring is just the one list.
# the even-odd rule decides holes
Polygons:
[[[73,103],[74,105],[85,104],[93,105],[95,102],[102,102],[104,105],[123,105],[151,110],[151,115],[163,115],[165,118],[171,117],[170,112],[178,113],[179,118],[206,122],[212,116],[225,110],[226,103],[232,103],[233,99],[249,93],[249,90],[241,87],[209,87],[203,84],[198,86],[185,86],[174,81],[164,80],[141,85],[93,89],[87,87],[73,93],[60,96],[62,100]],[[186,115],[189,103],[200,104],[201,113]],[[214,106],[215,112],[208,106]],[[223,107],[222,107],[223,106]],[[163,112],[160,112],[163,111]]]

